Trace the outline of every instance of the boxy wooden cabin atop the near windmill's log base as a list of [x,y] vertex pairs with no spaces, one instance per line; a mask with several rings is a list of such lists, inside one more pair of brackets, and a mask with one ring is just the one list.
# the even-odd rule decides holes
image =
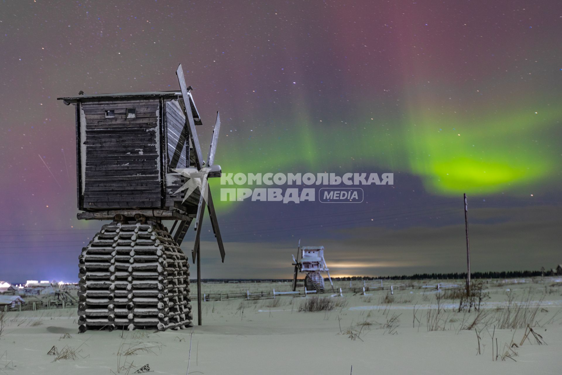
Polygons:
[[[201,125],[188,96],[194,123]],[[76,106],[78,209],[88,211],[79,218],[111,219],[111,210],[125,207],[167,219],[192,214],[198,192],[183,204],[173,195],[184,183],[173,169],[195,165],[179,98],[176,91],[59,98]]]

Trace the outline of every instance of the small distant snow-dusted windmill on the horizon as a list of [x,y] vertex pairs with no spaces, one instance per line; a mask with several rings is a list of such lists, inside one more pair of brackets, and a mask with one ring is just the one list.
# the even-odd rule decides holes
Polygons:
[[[298,260],[299,254],[301,260]],[[297,288],[297,274],[298,272],[305,272],[305,287],[307,290],[315,290],[317,292],[324,292],[324,277],[320,272],[326,272],[332,290],[334,284],[330,277],[330,272],[326,260],[324,259],[324,246],[302,246],[301,240],[298,240],[297,259],[293,255],[294,275],[293,275],[293,291]]]

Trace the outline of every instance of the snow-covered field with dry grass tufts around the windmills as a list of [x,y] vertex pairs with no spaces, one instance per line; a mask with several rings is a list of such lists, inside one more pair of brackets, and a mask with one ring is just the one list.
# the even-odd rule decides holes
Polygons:
[[[204,325],[193,331],[79,334],[76,308],[10,312],[0,328],[0,374],[343,375],[351,367],[353,375],[560,374],[562,283],[490,281],[481,308],[470,312],[459,311],[454,290],[409,289],[408,283],[385,282],[385,290],[367,296],[325,293],[316,302],[328,310],[318,312],[299,311],[311,307],[313,295],[203,302]],[[203,285],[203,292],[212,293],[248,289]]]

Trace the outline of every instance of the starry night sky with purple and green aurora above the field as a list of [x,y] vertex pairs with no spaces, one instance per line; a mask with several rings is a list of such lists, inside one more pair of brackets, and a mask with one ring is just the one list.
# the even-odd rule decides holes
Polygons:
[[395,174],[362,204],[217,202],[203,278],[291,278],[299,238],[336,276],[463,272],[463,193],[473,271],[553,268],[560,35],[558,0],[3,1],[0,279],[77,281],[102,225],[76,219],[56,98],[175,90],[179,63],[223,173]]

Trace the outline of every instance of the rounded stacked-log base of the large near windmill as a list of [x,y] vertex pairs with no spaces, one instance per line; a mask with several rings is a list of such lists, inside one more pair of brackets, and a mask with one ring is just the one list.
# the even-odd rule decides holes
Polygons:
[[161,223],[103,225],[79,263],[80,332],[193,326],[188,259]]

